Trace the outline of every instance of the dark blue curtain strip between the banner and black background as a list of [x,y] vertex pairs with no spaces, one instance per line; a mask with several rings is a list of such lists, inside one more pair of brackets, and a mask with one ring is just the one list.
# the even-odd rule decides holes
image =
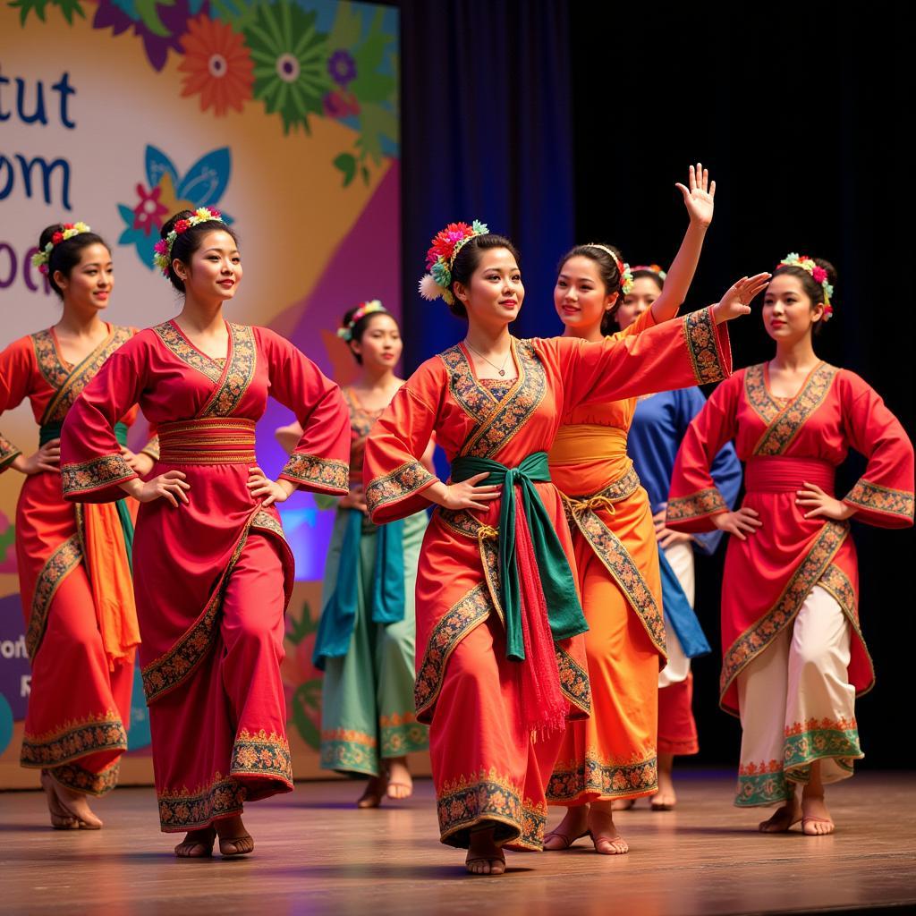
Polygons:
[[573,114],[567,5],[547,0],[402,0],[405,364],[466,324],[417,284],[433,234],[479,219],[522,256],[512,332],[560,333],[552,290],[573,243]]

